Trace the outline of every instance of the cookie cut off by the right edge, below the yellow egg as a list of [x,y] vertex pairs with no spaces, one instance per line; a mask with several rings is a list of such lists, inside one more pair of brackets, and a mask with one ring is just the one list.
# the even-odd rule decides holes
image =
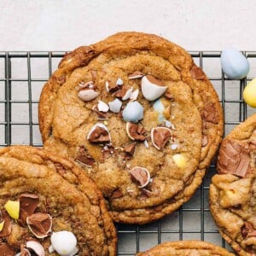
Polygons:
[[256,254],[256,114],[224,138],[210,207],[221,235],[238,255]]

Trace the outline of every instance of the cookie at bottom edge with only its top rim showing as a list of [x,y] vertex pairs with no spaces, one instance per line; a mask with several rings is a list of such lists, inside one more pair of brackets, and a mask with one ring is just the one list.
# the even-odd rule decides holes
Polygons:
[[223,247],[218,247],[207,241],[167,241],[149,249],[138,256],[234,256]]

